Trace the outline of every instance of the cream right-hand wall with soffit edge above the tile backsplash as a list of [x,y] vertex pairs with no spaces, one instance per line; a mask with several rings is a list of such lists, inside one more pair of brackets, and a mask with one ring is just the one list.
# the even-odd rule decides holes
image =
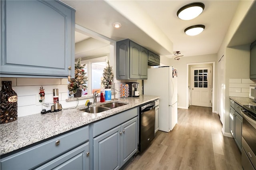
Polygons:
[[[225,100],[223,103],[224,122],[222,133],[224,136],[231,136],[229,130],[229,80],[230,79],[249,79],[250,69],[250,49],[249,44],[240,45],[237,47],[228,47],[228,43],[234,36],[236,30],[240,26],[244,17],[254,1],[240,1],[236,13],[230,23],[226,36],[223,39],[222,45],[218,51],[218,60],[224,55],[225,60]],[[245,34],[248,34],[245,32]]]

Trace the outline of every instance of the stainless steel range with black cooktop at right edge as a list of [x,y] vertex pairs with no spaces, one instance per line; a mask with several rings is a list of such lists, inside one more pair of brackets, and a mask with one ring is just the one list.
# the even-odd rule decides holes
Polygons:
[[244,105],[241,109],[242,166],[244,170],[256,169],[256,106]]

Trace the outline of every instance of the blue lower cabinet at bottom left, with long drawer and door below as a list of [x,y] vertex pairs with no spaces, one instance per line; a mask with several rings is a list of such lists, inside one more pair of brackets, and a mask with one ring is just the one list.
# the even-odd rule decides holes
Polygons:
[[68,132],[20,152],[1,156],[1,170],[89,169],[89,130]]

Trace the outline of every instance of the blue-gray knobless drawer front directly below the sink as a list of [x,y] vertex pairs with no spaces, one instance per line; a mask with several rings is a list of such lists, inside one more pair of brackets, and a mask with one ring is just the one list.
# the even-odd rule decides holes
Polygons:
[[93,137],[98,136],[99,134],[102,134],[103,132],[106,132],[136,116],[138,116],[138,107],[103,119],[102,121],[98,121],[92,125],[92,135]]

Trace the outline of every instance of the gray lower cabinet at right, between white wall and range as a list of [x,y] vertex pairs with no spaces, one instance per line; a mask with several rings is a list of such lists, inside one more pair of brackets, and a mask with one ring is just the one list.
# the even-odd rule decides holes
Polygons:
[[242,107],[230,99],[230,132],[234,137],[234,140],[242,151],[242,123],[243,117],[240,115],[240,109]]

